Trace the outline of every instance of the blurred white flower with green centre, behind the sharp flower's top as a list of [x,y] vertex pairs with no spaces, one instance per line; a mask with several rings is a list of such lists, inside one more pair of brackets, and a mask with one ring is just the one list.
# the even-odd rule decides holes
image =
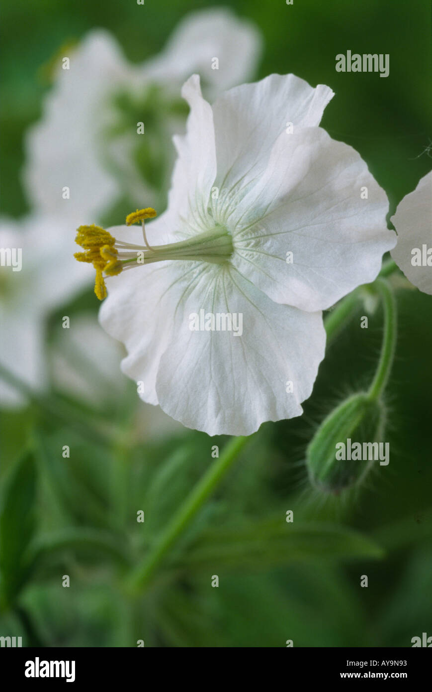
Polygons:
[[[239,84],[254,70],[260,44],[249,22],[224,9],[189,15],[165,51],[140,65],[127,62],[106,31],[89,33],[66,51],[69,69],[59,60],[44,116],[28,134],[24,181],[33,206],[68,212],[78,223],[100,221],[124,197],[165,205],[175,156],[171,136],[184,130],[187,116],[178,98],[182,82],[199,71],[211,95]],[[214,58],[218,69],[212,69]],[[138,134],[140,122],[144,134]]]

